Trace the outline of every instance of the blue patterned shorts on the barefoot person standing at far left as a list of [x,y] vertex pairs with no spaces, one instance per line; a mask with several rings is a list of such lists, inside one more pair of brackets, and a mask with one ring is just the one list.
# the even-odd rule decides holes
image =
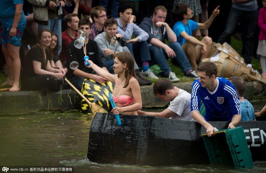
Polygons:
[[5,47],[7,47],[7,43],[11,43],[12,45],[20,47],[21,39],[22,39],[23,32],[25,30],[25,27],[26,25],[23,27],[17,27],[17,32],[14,37],[10,37],[9,35],[11,27],[8,27],[8,28],[3,27],[3,30],[2,31],[0,30],[0,37],[1,37],[0,40],[2,40],[2,44]]

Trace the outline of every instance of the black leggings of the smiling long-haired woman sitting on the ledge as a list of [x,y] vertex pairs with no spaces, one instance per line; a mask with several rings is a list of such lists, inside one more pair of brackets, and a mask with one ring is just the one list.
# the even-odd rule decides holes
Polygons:
[[62,80],[58,80],[50,74],[21,78],[23,90],[40,91],[43,88],[47,88],[49,91],[59,91],[62,84]]

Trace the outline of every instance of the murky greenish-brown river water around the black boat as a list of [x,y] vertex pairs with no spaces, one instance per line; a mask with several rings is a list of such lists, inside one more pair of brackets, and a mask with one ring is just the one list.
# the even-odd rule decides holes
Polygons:
[[252,169],[93,163],[86,158],[92,120],[79,111],[0,116],[0,166],[71,167],[73,172],[266,172],[266,161],[255,161]]

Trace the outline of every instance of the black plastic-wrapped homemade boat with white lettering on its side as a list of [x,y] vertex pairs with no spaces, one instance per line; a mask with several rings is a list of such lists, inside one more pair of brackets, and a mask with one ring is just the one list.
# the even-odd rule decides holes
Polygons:
[[[130,165],[209,164],[202,139],[206,129],[197,122],[153,116],[97,113],[90,127],[87,157],[97,163]],[[210,122],[217,129],[229,122]],[[266,160],[266,121],[241,121],[252,160]]]

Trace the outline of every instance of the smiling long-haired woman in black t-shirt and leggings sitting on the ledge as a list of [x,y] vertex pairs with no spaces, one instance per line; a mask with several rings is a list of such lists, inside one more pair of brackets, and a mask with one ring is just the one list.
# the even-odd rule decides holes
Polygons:
[[47,29],[38,32],[38,43],[26,55],[25,66],[21,75],[23,90],[59,91],[66,72],[51,67],[53,51],[52,33]]

